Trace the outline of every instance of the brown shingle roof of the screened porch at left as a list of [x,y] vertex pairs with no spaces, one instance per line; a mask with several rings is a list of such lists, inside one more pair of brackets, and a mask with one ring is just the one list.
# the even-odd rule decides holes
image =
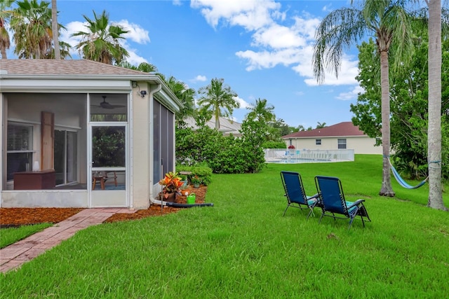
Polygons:
[[149,75],[92,60],[1,60],[0,70],[8,75]]

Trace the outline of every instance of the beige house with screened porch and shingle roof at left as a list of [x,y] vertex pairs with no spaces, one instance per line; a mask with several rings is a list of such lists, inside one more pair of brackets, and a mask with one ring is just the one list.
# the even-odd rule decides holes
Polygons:
[[0,206],[149,207],[175,170],[181,106],[154,74],[1,60]]

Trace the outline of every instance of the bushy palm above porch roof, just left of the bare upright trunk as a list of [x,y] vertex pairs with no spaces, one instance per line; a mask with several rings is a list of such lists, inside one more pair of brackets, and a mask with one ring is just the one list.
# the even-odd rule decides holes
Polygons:
[[14,53],[19,58],[42,58],[52,51],[51,9],[49,3],[36,0],[18,1],[11,18],[15,41]]

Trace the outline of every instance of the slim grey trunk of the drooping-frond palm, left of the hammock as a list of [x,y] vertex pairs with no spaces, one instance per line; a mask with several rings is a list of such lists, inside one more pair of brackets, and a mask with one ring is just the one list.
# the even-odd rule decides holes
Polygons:
[[388,52],[380,52],[380,88],[382,90],[382,188],[379,195],[394,196],[390,175],[390,91],[389,91]]

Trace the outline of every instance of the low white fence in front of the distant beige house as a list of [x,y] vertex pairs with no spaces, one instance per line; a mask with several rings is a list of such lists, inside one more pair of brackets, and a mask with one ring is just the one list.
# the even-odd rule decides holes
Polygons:
[[266,148],[267,163],[307,163],[307,162],[344,162],[354,161],[353,149],[308,150],[288,148]]

